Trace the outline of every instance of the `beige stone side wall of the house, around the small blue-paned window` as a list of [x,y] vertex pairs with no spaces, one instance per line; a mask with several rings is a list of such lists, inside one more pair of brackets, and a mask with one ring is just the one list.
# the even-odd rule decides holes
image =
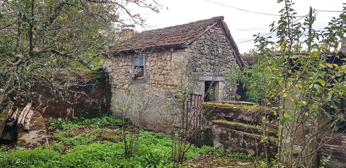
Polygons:
[[[173,103],[171,94],[175,93],[176,87],[179,85],[181,62],[186,53],[184,50],[166,49],[146,53],[144,79],[132,77],[132,57],[135,54],[105,58],[103,66],[109,73],[112,97],[115,99],[127,98],[126,92],[130,90],[135,99],[131,104],[131,109],[136,109],[136,102],[141,99],[150,99],[152,102],[152,107],[142,118],[141,126],[149,130],[164,131],[165,123],[158,114],[167,111],[166,102]],[[113,115],[120,115],[116,112],[115,102],[111,102],[111,110]],[[127,118],[136,121],[136,112],[129,112]]]

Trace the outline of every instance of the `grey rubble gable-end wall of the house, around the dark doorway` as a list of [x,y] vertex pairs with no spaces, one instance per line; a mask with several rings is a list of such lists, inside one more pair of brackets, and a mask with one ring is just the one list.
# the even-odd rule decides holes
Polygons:
[[[204,94],[204,81],[219,81],[218,95],[221,101],[235,99],[236,85],[226,81],[224,71],[226,65],[237,65],[233,50],[226,41],[226,36],[220,27],[214,26],[203,35],[195,39],[186,52],[186,70],[192,81],[201,86],[200,94]],[[221,96],[226,93],[226,96]]]

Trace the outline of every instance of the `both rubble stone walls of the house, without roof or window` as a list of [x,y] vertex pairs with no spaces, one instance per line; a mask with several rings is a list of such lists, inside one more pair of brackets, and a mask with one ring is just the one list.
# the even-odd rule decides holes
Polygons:
[[[222,68],[236,64],[226,37],[221,28],[215,26],[195,39],[185,48],[167,48],[141,53],[145,56],[145,77],[133,77],[132,58],[138,54],[129,53],[104,59],[103,67],[109,74],[112,97],[127,98],[127,90],[134,94],[134,102],[150,99],[155,104],[143,118],[141,125],[147,129],[164,131],[164,123],[158,118],[161,112],[167,112],[167,102],[174,104],[172,97],[177,86],[186,87],[186,93],[204,94],[204,81],[218,81],[217,95],[228,93],[222,100],[233,100],[235,84],[226,81]],[[221,96],[219,96],[221,99]],[[115,102],[111,103],[113,114],[116,113]],[[136,103],[131,104],[136,109]],[[166,115],[166,114],[165,114]],[[128,113],[128,118],[135,121],[136,112]]]

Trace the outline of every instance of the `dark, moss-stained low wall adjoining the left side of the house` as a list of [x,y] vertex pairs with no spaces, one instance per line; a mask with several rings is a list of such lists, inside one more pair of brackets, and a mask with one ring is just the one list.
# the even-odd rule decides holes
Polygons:
[[48,87],[40,88],[42,97],[47,100],[33,102],[33,108],[42,114],[44,120],[93,118],[110,113],[111,90],[107,74],[100,69],[98,72],[79,71],[76,75],[80,75],[80,80],[90,80],[90,85],[73,87],[71,89],[75,92],[63,96]]

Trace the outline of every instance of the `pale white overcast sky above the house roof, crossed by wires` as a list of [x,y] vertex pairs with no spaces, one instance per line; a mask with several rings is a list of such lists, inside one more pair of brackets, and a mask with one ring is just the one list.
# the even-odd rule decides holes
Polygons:
[[[248,52],[254,48],[253,40],[245,43],[241,42],[253,39],[253,35],[257,34],[256,32],[263,32],[262,35],[270,32],[269,25],[280,17],[242,11],[226,6],[276,15],[279,15],[279,11],[284,7],[284,3],[276,3],[277,0],[210,0],[226,6],[221,6],[207,0],[156,1],[163,5],[160,13],[144,9],[139,9],[138,11],[146,18],[147,24],[152,26],[151,28],[145,28],[146,30],[181,25],[215,16],[224,16],[224,21],[230,29],[231,35],[235,42],[239,43],[237,46],[240,53]],[[342,10],[345,0],[293,0],[293,2],[295,3],[293,9],[298,13],[298,16],[304,16],[308,15],[310,6],[316,10]],[[318,11],[316,13],[316,21],[312,28],[315,30],[325,28],[330,19],[337,17],[339,14],[340,12]],[[139,27],[136,27],[136,29],[138,31],[145,30]],[[274,37],[275,35],[267,36]]]

